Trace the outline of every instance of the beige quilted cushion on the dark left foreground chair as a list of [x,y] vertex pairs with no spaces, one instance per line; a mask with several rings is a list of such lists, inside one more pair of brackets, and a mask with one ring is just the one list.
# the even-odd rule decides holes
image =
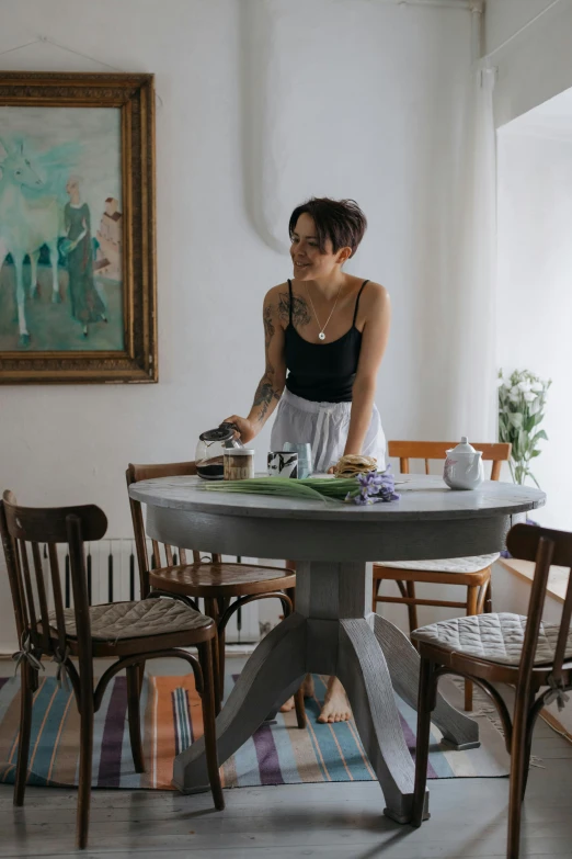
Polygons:
[[[66,632],[78,634],[73,609],[64,609]],[[165,635],[173,632],[188,632],[208,626],[210,618],[195,611],[176,599],[146,599],[139,602],[108,602],[90,607],[91,637],[94,641],[117,641],[139,638],[146,635]],[[49,621],[56,625],[56,613],[49,613]]]

